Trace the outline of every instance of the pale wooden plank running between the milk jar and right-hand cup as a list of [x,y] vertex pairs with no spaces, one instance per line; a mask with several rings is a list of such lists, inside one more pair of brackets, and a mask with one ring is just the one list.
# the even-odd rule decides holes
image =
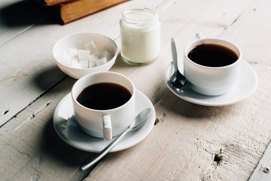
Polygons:
[[[122,61],[116,61],[110,71],[129,75],[129,78],[134,82],[137,89],[144,92],[152,103],[155,104],[168,89],[164,84],[163,74],[166,66],[172,61],[171,44],[169,40],[172,37],[176,38],[178,54],[182,57],[184,46],[194,40],[196,33],[202,32],[206,37],[219,36],[219,34],[224,31],[225,27],[230,26],[230,24],[235,21],[236,17],[238,17],[245,9],[245,4],[249,3],[251,3],[251,1],[240,1],[236,5],[240,7],[240,11],[231,11],[231,7],[228,5],[231,4],[230,1],[225,1],[224,3],[214,1],[166,2],[163,6],[159,7],[162,44],[159,59],[150,65],[139,66],[136,70]],[[171,4],[172,6],[168,6],[168,4]],[[229,18],[224,20],[225,25],[210,27],[206,24],[194,23],[197,22],[197,19],[202,18],[204,12],[214,11],[214,14],[217,14],[217,10],[213,7],[214,4],[221,10],[221,14],[225,11],[228,12]],[[224,12],[222,12],[223,10]],[[212,22],[213,19],[215,22],[217,21],[216,17],[206,16],[206,21],[208,22]],[[224,17],[221,16],[221,19],[224,19]],[[119,46],[120,39],[116,42]],[[119,57],[119,59],[121,58]],[[121,67],[124,68],[120,69]],[[132,73],[129,73],[129,71]],[[142,78],[140,77],[145,77],[144,81],[142,81]],[[146,82],[151,82],[151,84],[149,83],[146,85]]]

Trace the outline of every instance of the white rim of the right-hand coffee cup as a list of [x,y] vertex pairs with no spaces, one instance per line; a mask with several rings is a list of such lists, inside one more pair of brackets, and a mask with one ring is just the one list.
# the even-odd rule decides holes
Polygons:
[[[232,64],[230,64],[230,65],[227,65],[227,66],[221,66],[221,67],[209,67],[209,66],[204,66],[204,65],[197,64],[197,63],[193,62],[192,60],[190,60],[190,59],[188,58],[188,56],[187,56],[187,55],[188,55],[188,54],[187,54],[187,50],[188,50],[189,48],[192,48],[192,47],[191,47],[191,44],[192,44],[192,43],[196,43],[196,42],[202,41],[202,40],[221,40],[221,41],[226,41],[226,42],[232,44],[233,46],[235,46],[235,48],[237,48],[237,50],[238,50],[238,52],[239,52],[239,57],[238,57],[238,59],[237,59],[234,63],[232,63]],[[204,43],[201,43],[201,44],[198,44],[198,45],[202,45],[202,44],[204,44]],[[219,44],[219,43],[213,43],[213,44],[221,45],[221,44]],[[223,45],[223,46],[224,46],[224,45]],[[231,50],[232,50],[232,49],[231,49]],[[233,51],[234,51],[234,50],[233,50]],[[235,52],[235,51],[234,51],[234,52]],[[186,58],[188,61],[190,61],[192,64],[195,64],[195,65],[197,65],[197,66],[200,66],[200,67],[203,67],[203,68],[210,68],[210,69],[221,69],[221,68],[228,68],[228,67],[234,66],[235,64],[238,64],[238,63],[241,61],[241,59],[242,59],[242,51],[241,51],[241,49],[240,49],[237,45],[235,45],[234,43],[232,43],[232,42],[230,42],[230,41],[227,41],[227,40],[224,40],[224,39],[222,39],[222,38],[200,38],[200,39],[197,39],[197,40],[195,40],[195,41],[192,41],[192,42],[188,43],[188,44],[184,47],[184,56],[185,56],[185,58]]]

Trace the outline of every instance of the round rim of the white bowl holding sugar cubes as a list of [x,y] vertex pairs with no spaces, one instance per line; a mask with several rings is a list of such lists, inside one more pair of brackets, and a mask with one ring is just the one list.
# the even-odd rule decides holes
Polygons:
[[[98,35],[98,36],[103,36],[103,37],[108,38],[109,40],[111,40],[111,41],[114,43],[115,48],[116,48],[116,52],[115,52],[115,55],[113,56],[113,58],[112,58],[111,60],[108,60],[108,62],[106,62],[106,63],[103,64],[103,65],[96,66],[96,67],[91,67],[91,68],[73,68],[73,67],[69,67],[69,66],[66,66],[66,65],[64,65],[64,64],[61,64],[61,63],[57,60],[57,58],[54,56],[54,53],[53,53],[53,51],[54,51],[54,49],[55,49],[57,43],[60,42],[61,40],[65,39],[65,38],[68,38],[69,36],[73,36],[73,35],[77,35],[77,34],[86,34],[86,33],[87,33],[87,34],[94,34],[94,35]],[[117,55],[118,55],[118,47],[117,47],[117,44],[115,43],[115,41],[113,41],[113,40],[112,40],[111,38],[109,38],[108,36],[105,36],[105,35],[102,35],[102,34],[98,34],[98,33],[87,32],[87,31],[82,31],[82,32],[77,32],[77,33],[73,33],[73,34],[66,35],[66,36],[60,38],[58,41],[56,41],[56,42],[54,43],[53,48],[52,48],[52,57],[54,58],[54,61],[55,61],[56,63],[61,64],[62,66],[66,67],[66,68],[71,68],[71,69],[73,69],[73,70],[98,69],[98,67],[99,67],[99,68],[100,68],[100,67],[103,67],[103,66],[105,66],[106,64],[108,64],[110,61],[112,61],[113,59],[115,59],[115,57],[117,57]]]

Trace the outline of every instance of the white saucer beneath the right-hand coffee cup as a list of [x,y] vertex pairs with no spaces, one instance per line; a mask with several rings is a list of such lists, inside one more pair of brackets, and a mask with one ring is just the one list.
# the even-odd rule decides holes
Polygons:
[[256,72],[247,62],[243,60],[241,60],[240,75],[237,78],[235,87],[230,92],[219,96],[207,96],[199,94],[191,90],[188,86],[185,86],[183,89],[175,89],[171,87],[168,80],[171,75],[173,75],[173,72],[174,66],[173,62],[171,62],[167,66],[164,75],[166,85],[170,91],[186,101],[205,106],[225,106],[242,101],[255,91],[258,84]]

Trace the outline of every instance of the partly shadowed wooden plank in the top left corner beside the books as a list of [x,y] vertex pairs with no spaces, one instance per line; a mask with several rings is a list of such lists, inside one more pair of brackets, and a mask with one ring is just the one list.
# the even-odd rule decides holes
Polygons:
[[46,13],[34,1],[0,2],[0,45],[33,27]]

